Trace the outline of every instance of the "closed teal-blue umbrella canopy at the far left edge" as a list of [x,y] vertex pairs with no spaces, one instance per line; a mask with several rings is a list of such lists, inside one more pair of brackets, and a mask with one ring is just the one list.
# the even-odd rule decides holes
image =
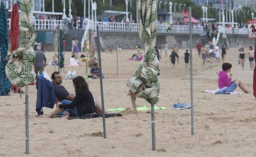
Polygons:
[[6,77],[5,66],[7,64],[6,56],[8,50],[8,27],[4,3],[0,3],[0,95],[7,95],[11,88],[11,83]]

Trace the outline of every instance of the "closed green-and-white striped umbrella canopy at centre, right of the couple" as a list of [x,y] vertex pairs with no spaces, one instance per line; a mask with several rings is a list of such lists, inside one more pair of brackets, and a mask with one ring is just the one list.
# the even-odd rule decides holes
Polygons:
[[159,61],[155,51],[157,35],[157,6],[155,0],[139,0],[139,37],[144,47],[144,58],[133,78],[127,81],[130,91],[150,104],[159,101]]

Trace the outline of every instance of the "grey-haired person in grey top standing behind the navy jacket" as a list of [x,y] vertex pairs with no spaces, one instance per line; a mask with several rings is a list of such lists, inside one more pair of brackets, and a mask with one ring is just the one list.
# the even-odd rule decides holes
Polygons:
[[37,46],[36,61],[34,63],[36,79],[38,76],[38,72],[39,75],[43,73],[44,67],[46,67],[46,56],[44,55],[43,51],[41,51],[41,46]]

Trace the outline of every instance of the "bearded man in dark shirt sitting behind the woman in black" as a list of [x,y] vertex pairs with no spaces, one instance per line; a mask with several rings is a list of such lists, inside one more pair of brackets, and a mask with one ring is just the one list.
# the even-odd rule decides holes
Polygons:
[[[62,86],[62,75],[55,71],[52,74],[52,80],[53,80],[53,87],[54,91],[57,97],[58,102],[62,102],[63,100],[69,100],[70,103],[74,100],[75,95],[70,94],[64,86]],[[98,102],[98,100],[94,99],[95,106],[96,106],[96,113],[102,113],[101,104]]]

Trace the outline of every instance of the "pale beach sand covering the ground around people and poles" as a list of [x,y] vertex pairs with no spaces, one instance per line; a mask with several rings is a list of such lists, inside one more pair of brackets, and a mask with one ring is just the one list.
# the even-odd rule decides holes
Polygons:
[[[161,98],[158,106],[165,110],[155,111],[156,151],[151,147],[151,114],[139,111],[122,112],[123,117],[106,119],[107,139],[102,137],[102,118],[73,119],[37,117],[35,104],[36,86],[29,86],[30,157],[253,157],[256,146],[255,98],[252,95],[253,71],[246,61],[245,71],[238,64],[237,49],[230,49],[226,61],[233,64],[233,78],[241,78],[251,94],[214,95],[206,89],[216,90],[217,73],[221,63],[206,63],[194,52],[194,135],[191,135],[190,109],[177,111],[174,103],[190,104],[190,72],[185,69],[184,49],[180,50],[180,63],[171,68],[169,57],[162,53],[160,60]],[[105,108],[130,108],[126,80],[132,77],[139,62],[129,61],[136,50],[119,52],[119,75],[116,68],[116,53],[102,53]],[[48,62],[53,52],[46,52]],[[169,50],[170,54],[170,50]],[[71,52],[65,53],[69,62]],[[79,59],[81,62],[81,59]],[[49,75],[54,66],[46,66]],[[57,69],[57,67],[56,67]],[[66,66],[85,74],[85,64],[79,67]],[[101,100],[99,80],[87,80],[94,97]],[[63,80],[63,85],[74,93],[72,80]],[[25,88],[23,88],[25,90]],[[237,91],[241,91],[239,88]],[[11,93],[0,97],[0,156],[25,157],[25,94]],[[137,99],[137,106],[150,105]],[[49,114],[52,109],[45,108]]]

